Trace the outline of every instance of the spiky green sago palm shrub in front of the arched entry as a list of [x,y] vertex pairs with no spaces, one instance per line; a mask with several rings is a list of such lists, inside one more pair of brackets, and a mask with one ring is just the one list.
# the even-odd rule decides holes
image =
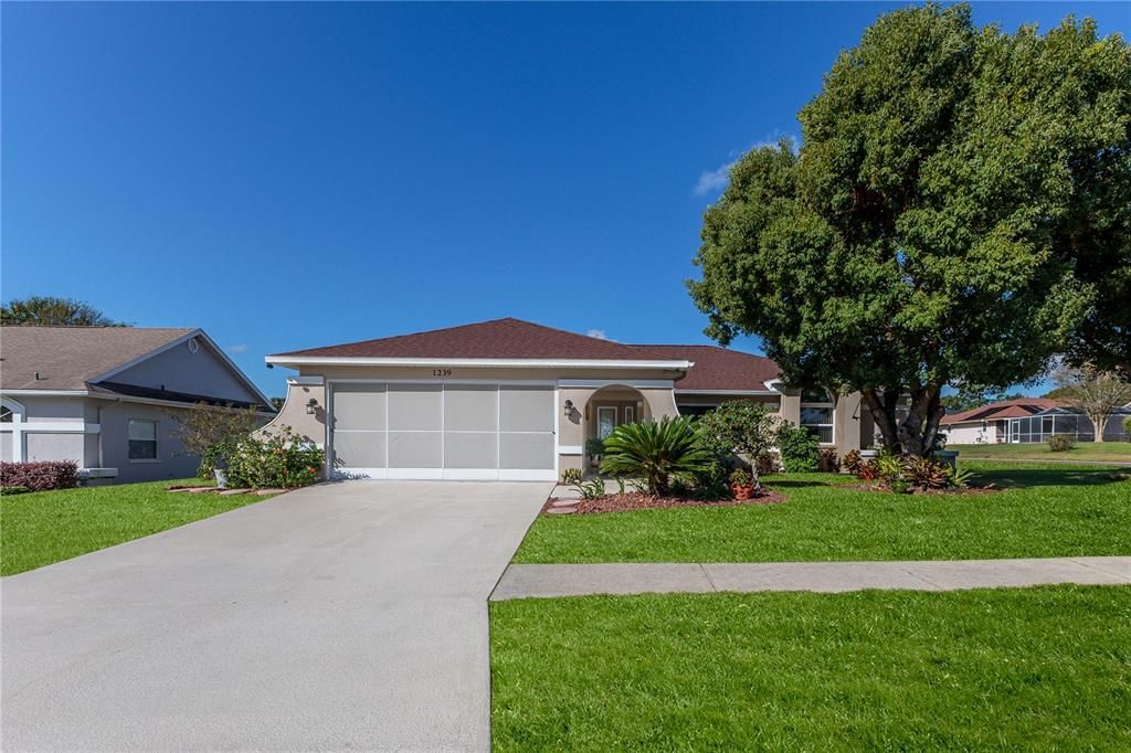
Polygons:
[[667,494],[673,476],[693,476],[713,460],[690,417],[621,424],[605,439],[601,473],[637,476],[648,494]]

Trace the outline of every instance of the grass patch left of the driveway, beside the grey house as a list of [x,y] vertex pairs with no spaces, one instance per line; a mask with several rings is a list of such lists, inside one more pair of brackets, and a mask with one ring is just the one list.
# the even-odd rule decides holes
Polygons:
[[171,494],[162,481],[0,497],[0,575],[69,560],[219,512],[261,502],[251,494]]

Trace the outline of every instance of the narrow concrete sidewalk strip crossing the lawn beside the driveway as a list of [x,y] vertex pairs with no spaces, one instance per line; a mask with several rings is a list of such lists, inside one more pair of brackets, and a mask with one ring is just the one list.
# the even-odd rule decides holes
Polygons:
[[512,564],[492,600],[589,594],[860,591],[1131,585],[1131,557],[926,562]]

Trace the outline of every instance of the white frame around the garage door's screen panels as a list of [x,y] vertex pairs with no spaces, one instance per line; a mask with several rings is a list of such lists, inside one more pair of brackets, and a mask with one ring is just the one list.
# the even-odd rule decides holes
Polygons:
[[[553,413],[553,430],[552,430],[552,452],[553,452],[553,468],[545,469],[529,469],[529,468],[335,468],[334,467],[334,387],[335,384],[373,384],[374,387],[382,386],[413,386],[413,387],[437,387],[440,388],[440,400],[441,400],[441,436],[444,433],[443,429],[443,416],[444,416],[444,397],[447,395],[446,386],[483,386],[483,387],[494,387],[497,390],[502,390],[507,387],[545,387],[549,392],[553,395],[553,406],[551,410]],[[388,390],[386,392],[386,432],[388,429]],[[491,379],[444,379],[437,380],[434,382],[422,381],[418,379],[328,379],[326,380],[326,474],[329,478],[373,478],[373,479],[405,479],[405,481],[558,481],[559,474],[559,447],[558,436],[560,431],[558,415],[558,405],[560,403],[559,386],[556,381],[552,380],[491,380]],[[502,400],[497,398],[497,408],[501,412]],[[337,430],[337,431],[349,431],[349,430]],[[504,433],[501,430],[501,422],[495,427],[497,435]],[[530,433],[530,434],[544,434],[545,432],[506,432],[506,433]],[[441,442],[442,444],[442,442]],[[442,450],[441,450],[442,455]],[[388,458],[388,447],[386,445],[386,458]],[[388,465],[388,460],[386,460]],[[441,461],[441,466],[442,466]]]

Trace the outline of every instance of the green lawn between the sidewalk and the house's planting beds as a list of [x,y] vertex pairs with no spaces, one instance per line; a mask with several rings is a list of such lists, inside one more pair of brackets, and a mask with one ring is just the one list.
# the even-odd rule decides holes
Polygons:
[[1096,466],[964,462],[972,495],[846,488],[829,474],[766,477],[775,505],[539,516],[515,562],[782,562],[1131,554],[1131,481]]

